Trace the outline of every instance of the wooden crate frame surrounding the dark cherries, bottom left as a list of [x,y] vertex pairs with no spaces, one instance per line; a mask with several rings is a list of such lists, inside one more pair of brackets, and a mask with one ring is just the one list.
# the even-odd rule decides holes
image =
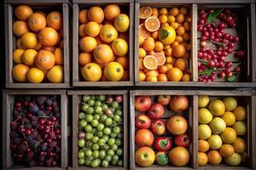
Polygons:
[[[15,166],[9,150],[10,127],[15,96],[18,95],[58,95],[61,99],[61,167],[20,167]],[[61,170],[67,167],[67,91],[66,90],[3,90],[3,169]]]

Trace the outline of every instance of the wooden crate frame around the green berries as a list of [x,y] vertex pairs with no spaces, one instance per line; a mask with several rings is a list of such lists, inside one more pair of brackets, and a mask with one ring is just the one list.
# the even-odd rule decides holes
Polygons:
[[124,134],[124,139],[123,139],[123,162],[124,166],[123,167],[115,167],[115,166],[109,166],[109,167],[97,167],[97,169],[107,169],[107,170],[115,170],[115,169],[128,169],[129,168],[129,151],[128,151],[128,144],[129,144],[129,129],[127,128],[129,126],[128,122],[128,91],[125,90],[97,90],[97,91],[68,91],[68,95],[72,95],[72,105],[73,105],[73,121],[72,121],[72,167],[68,167],[68,169],[71,170],[85,170],[85,169],[94,169],[92,167],[86,167],[86,166],[79,166],[78,164],[78,123],[79,123],[79,104],[81,103],[81,99],[83,95],[118,95],[121,94],[123,95],[123,134]]

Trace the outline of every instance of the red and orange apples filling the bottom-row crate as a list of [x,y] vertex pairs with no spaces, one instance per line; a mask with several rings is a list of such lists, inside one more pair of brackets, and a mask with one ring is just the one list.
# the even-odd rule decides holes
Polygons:
[[140,167],[189,164],[189,98],[136,96],[135,161]]

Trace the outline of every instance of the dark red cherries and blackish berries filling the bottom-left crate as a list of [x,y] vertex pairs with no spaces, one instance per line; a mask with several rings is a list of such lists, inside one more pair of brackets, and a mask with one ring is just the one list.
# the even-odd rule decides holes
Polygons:
[[58,96],[20,95],[10,122],[11,156],[15,165],[61,166],[61,107]]

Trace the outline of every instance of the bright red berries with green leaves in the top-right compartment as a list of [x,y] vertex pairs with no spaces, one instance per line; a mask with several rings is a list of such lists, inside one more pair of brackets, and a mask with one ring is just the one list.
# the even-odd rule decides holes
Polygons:
[[241,20],[228,8],[201,9],[198,16],[198,81],[239,82],[246,48]]

